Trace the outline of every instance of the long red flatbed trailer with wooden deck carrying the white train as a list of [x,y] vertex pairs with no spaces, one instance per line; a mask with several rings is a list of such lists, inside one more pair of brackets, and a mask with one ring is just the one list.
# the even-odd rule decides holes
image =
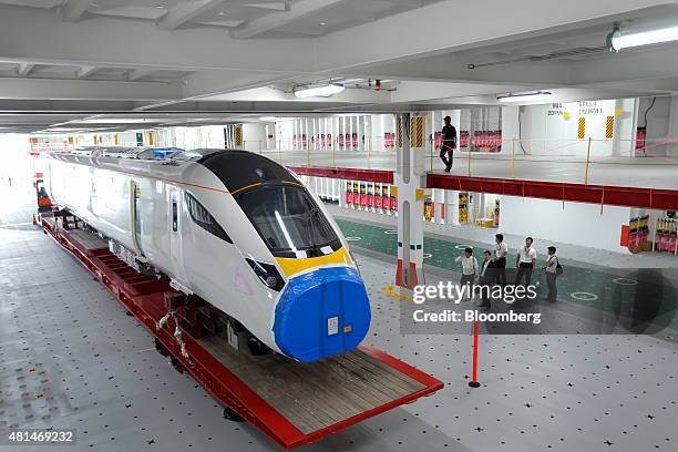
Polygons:
[[136,271],[90,232],[64,229],[53,217],[42,217],[41,223],[155,336],[158,350],[171,355],[177,369],[188,371],[215,399],[284,449],[317,442],[443,387],[428,373],[364,346],[301,363],[277,355],[238,352],[214,335],[194,338],[184,330],[185,358],[173,336],[174,319],[156,329],[167,300],[178,295],[167,278]]

